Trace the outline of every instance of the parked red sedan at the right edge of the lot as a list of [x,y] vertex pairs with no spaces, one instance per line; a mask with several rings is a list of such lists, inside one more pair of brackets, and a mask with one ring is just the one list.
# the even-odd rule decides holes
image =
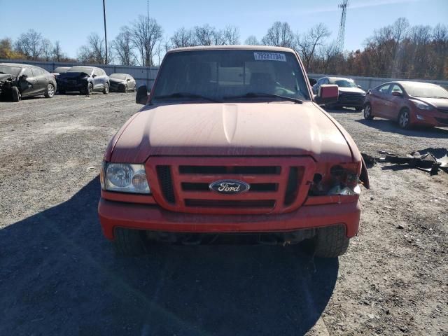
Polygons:
[[388,82],[367,92],[364,118],[396,120],[401,128],[448,126],[448,91],[430,83]]

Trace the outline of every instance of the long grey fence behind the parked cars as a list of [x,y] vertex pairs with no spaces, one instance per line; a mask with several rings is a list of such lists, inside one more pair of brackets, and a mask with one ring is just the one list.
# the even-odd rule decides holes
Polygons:
[[[63,63],[63,62],[35,62],[35,61],[22,61],[22,60],[10,60],[0,59],[0,62],[9,63],[26,63],[40,66],[41,68],[52,72],[58,66],[74,66],[80,64]],[[155,76],[157,75],[158,66],[125,66],[125,65],[104,65],[104,64],[89,64],[104,69],[108,75],[111,73],[129,73],[137,81],[137,85],[146,85],[147,87],[153,87]],[[342,76],[342,75],[325,75],[318,73],[308,73],[310,78],[318,79],[325,76],[334,77],[348,77],[355,80],[356,84],[363,87],[364,90],[369,90],[382,83],[393,80],[418,80],[419,82],[434,83],[442,87],[448,88],[448,80],[430,80],[430,79],[399,79],[399,78],[378,78],[378,77],[359,77],[359,76]]]

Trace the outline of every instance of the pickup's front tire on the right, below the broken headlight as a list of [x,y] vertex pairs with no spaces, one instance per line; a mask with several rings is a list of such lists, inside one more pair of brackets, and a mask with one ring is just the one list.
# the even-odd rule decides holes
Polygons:
[[318,229],[314,255],[319,258],[337,258],[347,251],[349,242],[344,225]]

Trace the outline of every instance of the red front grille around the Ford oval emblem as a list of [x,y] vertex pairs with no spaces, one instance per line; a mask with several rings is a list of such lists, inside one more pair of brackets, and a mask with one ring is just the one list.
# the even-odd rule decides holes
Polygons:
[[[307,197],[314,174],[309,157],[152,157],[148,179],[158,204],[169,210],[204,214],[267,214],[293,211]],[[210,190],[214,181],[248,183],[246,193]]]

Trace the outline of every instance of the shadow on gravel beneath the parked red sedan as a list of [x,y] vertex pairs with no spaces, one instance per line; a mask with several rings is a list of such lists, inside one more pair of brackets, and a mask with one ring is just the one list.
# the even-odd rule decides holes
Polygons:
[[[416,127],[411,130],[402,130],[398,127],[397,123],[392,120],[386,119],[374,119],[365,120],[358,119],[358,123],[366,125],[368,127],[376,128],[377,130],[389,133],[397,133],[402,135],[408,135],[409,137],[421,137],[421,138],[437,138],[448,139],[448,129],[440,127]],[[379,148],[382,149],[382,148]]]

